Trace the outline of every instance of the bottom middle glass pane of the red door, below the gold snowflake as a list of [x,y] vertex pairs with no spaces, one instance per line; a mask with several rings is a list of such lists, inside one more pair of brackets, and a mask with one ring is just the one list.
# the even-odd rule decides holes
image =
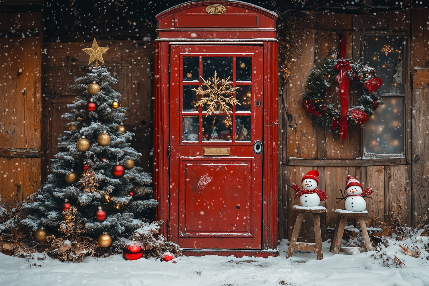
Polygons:
[[202,117],[203,141],[232,141],[232,118],[227,115]]

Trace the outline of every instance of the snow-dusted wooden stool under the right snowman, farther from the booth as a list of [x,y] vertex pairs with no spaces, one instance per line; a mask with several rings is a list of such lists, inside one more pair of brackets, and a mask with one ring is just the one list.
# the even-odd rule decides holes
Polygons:
[[[368,216],[368,211],[346,211],[346,210],[335,210],[338,214],[337,223],[335,224],[334,237],[331,240],[331,247],[329,248],[330,252],[337,254],[340,250],[347,251],[350,249],[358,249],[360,252],[371,251],[372,245],[369,241],[368,231],[366,230],[365,218]],[[365,240],[366,247],[341,247],[341,240],[343,238],[344,227],[347,223],[347,218],[355,218],[356,221],[360,224],[362,229],[363,239]]]

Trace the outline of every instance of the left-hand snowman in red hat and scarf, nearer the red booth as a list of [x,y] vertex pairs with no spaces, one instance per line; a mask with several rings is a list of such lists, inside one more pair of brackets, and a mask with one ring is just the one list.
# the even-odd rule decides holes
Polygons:
[[302,177],[302,189],[295,183],[292,188],[296,191],[293,199],[299,198],[299,204],[303,207],[315,207],[328,198],[325,192],[317,189],[319,184],[319,171],[311,170],[304,177]]

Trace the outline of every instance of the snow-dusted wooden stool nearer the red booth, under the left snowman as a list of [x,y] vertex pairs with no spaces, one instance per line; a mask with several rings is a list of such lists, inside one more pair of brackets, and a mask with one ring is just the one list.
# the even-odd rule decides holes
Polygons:
[[[292,238],[290,239],[289,249],[287,250],[286,258],[293,255],[293,250],[307,250],[315,251],[317,253],[317,260],[323,258],[322,252],[322,234],[320,233],[320,214],[326,212],[326,208],[322,206],[317,207],[302,207],[294,205],[293,209],[298,211],[295,226],[293,227]],[[311,213],[314,223],[314,241],[315,243],[297,242],[299,230],[301,229],[302,219],[306,213]]]

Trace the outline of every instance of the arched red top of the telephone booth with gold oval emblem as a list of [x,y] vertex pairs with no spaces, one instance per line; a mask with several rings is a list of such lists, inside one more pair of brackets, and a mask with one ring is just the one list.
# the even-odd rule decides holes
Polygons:
[[276,40],[277,15],[241,1],[187,2],[161,12],[156,19],[158,41],[163,39]]

